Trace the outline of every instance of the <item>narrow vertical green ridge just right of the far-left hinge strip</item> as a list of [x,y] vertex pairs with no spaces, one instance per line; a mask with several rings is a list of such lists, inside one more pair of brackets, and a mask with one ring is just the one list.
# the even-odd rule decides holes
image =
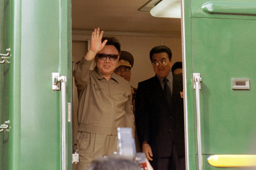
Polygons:
[[21,169],[21,1],[11,0],[10,170]]

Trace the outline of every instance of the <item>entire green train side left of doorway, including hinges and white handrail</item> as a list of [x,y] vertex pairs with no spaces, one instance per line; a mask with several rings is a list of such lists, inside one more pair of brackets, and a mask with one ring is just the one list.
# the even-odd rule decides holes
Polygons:
[[71,170],[71,0],[0,7],[0,170]]

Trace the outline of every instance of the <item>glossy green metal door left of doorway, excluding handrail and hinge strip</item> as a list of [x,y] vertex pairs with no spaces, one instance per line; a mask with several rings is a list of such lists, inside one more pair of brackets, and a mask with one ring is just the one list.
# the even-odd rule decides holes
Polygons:
[[[60,170],[61,92],[52,90],[52,73],[67,76],[67,102],[71,102],[71,0],[11,0],[10,30],[9,169]],[[67,132],[71,170],[68,121]]]

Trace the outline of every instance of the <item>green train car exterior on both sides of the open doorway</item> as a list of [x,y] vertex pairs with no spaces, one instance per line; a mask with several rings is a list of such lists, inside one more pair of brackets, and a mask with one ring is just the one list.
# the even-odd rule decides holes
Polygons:
[[[0,170],[72,170],[71,0],[0,8]],[[186,169],[256,169],[255,0],[181,0],[181,38]]]

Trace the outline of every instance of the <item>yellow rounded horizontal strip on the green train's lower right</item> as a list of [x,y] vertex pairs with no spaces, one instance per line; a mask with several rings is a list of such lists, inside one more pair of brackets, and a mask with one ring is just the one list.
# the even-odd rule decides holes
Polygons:
[[213,167],[256,167],[256,155],[212,155],[207,160]]

